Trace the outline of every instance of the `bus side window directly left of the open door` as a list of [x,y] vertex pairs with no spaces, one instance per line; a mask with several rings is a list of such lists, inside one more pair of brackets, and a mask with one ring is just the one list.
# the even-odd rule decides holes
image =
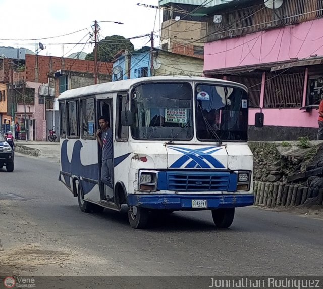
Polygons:
[[93,138],[95,136],[95,107],[94,98],[85,99],[82,106],[82,137]]

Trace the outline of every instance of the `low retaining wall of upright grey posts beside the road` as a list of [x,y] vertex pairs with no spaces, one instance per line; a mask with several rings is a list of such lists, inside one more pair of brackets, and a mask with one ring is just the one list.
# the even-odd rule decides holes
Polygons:
[[302,205],[322,205],[323,190],[314,196],[312,189],[301,185],[284,183],[254,182],[256,206],[297,207]]

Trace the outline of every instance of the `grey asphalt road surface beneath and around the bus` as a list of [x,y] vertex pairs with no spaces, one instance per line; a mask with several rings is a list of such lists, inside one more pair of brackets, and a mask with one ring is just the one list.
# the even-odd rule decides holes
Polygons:
[[[61,276],[322,275],[323,221],[258,208],[214,229],[209,211],[86,214],[58,181],[59,165],[17,155],[0,170],[0,272]],[[1,274],[0,274],[1,275]]]

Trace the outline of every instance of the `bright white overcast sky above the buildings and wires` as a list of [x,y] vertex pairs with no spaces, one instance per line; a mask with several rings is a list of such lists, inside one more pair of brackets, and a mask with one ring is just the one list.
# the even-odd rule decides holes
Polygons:
[[[129,38],[154,30],[155,46],[158,46],[162,14],[159,9],[141,7],[137,3],[158,5],[158,0],[0,0],[0,46],[24,47],[35,52],[36,45],[38,47],[38,42],[41,42],[45,49],[39,51],[39,55],[66,57],[82,50],[90,53],[93,44],[84,43],[94,41],[94,38],[89,40],[94,20],[124,23],[99,23],[99,39],[115,34]],[[40,39],[86,28],[63,37]],[[131,40],[135,48],[150,45],[148,41],[149,37]],[[76,45],[79,42],[83,44]]]

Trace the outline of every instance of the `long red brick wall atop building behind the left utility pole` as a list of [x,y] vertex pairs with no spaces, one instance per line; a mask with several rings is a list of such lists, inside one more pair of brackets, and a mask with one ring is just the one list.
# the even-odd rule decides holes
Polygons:
[[[38,79],[37,79],[37,65],[38,58]],[[101,74],[111,74],[112,63],[98,62],[98,72]],[[36,56],[26,54],[26,81],[34,81],[39,83],[48,82],[48,73],[57,70],[71,70],[79,72],[94,73],[94,61],[71,59],[56,56]]]

